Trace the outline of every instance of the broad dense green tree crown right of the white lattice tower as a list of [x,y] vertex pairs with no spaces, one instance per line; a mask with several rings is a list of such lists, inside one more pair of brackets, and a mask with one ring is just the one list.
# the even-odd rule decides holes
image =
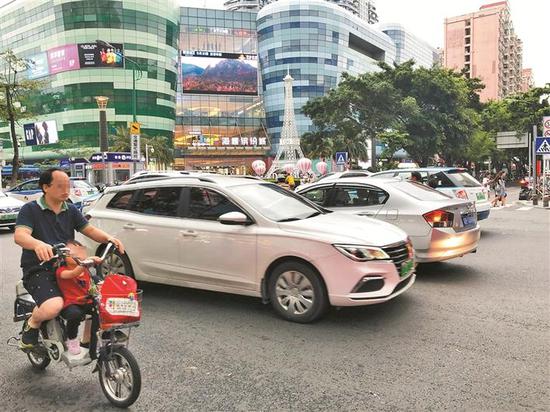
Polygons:
[[306,103],[303,111],[315,130],[303,137],[309,152],[329,139],[323,146],[364,160],[365,139],[375,138],[390,150],[405,149],[422,165],[434,154],[460,160],[479,120],[481,82],[440,67],[415,68],[412,61],[379,67],[357,77],[344,74],[336,89]]

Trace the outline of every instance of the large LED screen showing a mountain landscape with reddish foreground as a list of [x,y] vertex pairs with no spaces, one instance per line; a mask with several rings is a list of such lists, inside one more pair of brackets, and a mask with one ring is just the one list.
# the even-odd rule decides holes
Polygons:
[[184,93],[258,94],[255,55],[193,52],[181,56]]

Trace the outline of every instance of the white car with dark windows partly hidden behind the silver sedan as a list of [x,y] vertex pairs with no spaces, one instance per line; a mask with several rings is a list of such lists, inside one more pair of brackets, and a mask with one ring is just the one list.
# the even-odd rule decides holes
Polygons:
[[371,177],[399,177],[409,180],[413,173],[421,176],[421,182],[458,199],[471,200],[476,205],[477,220],[487,219],[491,212],[489,191],[466,169],[460,167],[421,167],[394,169],[374,173]]

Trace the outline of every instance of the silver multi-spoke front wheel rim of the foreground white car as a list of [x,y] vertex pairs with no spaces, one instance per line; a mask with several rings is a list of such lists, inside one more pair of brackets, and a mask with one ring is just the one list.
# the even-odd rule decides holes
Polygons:
[[279,275],[275,284],[275,294],[279,305],[293,315],[305,314],[315,301],[311,282],[303,273],[295,270]]

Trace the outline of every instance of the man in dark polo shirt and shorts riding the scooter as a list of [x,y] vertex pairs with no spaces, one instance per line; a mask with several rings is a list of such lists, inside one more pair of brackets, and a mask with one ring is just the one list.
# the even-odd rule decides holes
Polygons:
[[25,204],[17,217],[14,240],[23,248],[21,268],[23,284],[36,302],[32,316],[23,325],[21,349],[30,350],[38,340],[42,322],[54,319],[63,308],[63,298],[49,262],[54,256],[52,245],[75,238],[75,231],[99,242],[112,242],[124,253],[122,242],[92,226],[82,213],[67,202],[69,176],[61,169],[48,169],[38,182],[44,195]]

